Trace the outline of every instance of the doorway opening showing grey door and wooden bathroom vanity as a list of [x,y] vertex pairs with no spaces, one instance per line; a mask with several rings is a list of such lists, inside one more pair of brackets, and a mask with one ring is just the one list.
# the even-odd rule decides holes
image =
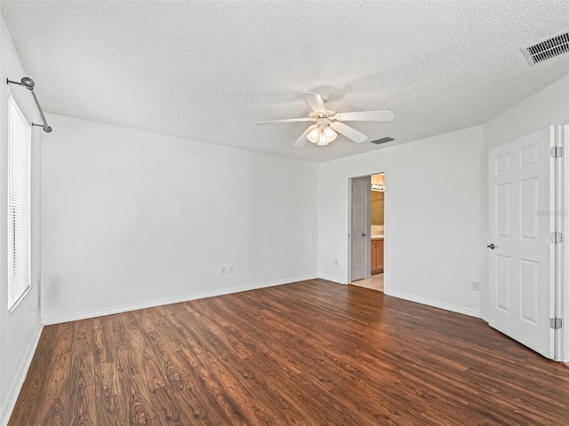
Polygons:
[[383,291],[385,259],[385,174],[350,179],[350,280]]

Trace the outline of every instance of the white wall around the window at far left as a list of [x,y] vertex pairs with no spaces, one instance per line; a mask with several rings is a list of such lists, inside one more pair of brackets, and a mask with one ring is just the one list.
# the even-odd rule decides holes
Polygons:
[[[36,120],[36,106],[28,90],[8,85],[6,78],[20,81],[26,75],[12,37],[1,20],[0,54],[0,425],[8,422],[21,384],[28,371],[42,326],[40,320],[40,130],[32,136],[32,290],[12,313],[7,302],[7,162],[8,92],[11,91],[28,120]],[[33,76],[32,76],[33,78]]]

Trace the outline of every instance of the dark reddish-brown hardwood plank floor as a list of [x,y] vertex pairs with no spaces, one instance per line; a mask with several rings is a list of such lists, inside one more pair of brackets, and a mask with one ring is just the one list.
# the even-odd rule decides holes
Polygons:
[[44,328],[10,426],[567,425],[481,319],[309,280]]

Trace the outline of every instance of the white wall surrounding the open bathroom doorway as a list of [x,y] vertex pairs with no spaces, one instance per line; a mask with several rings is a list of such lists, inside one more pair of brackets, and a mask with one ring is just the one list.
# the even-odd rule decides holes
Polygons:
[[386,294],[480,315],[485,167],[482,127],[320,164],[320,277],[348,280],[349,177],[386,171]]

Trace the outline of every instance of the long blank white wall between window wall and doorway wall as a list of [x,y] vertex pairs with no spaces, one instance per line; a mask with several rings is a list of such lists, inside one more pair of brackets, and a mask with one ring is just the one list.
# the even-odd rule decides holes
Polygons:
[[55,114],[48,122],[44,322],[317,276],[317,165]]

